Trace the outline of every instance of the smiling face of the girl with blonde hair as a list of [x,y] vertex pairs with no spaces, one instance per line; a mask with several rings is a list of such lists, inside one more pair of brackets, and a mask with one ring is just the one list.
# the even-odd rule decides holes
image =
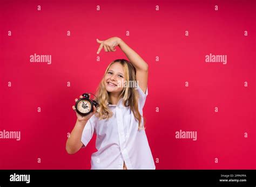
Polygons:
[[124,89],[124,67],[119,62],[111,64],[104,76],[104,85],[108,92],[119,93]]

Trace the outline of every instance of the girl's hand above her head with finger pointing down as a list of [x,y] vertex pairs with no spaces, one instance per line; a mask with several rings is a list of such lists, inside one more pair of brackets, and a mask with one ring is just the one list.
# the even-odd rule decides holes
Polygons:
[[112,37],[103,41],[98,39],[96,40],[100,44],[99,49],[97,51],[97,54],[99,54],[100,51],[102,51],[103,47],[105,52],[115,52],[116,51],[115,47],[119,45],[121,39],[118,37]]

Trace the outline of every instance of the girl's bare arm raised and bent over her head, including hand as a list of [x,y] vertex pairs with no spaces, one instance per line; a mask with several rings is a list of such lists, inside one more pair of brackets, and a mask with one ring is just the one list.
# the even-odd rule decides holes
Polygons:
[[136,80],[139,83],[139,87],[146,92],[149,66],[142,57],[140,57],[131,47],[125,44],[125,42],[118,37],[112,37],[104,41],[97,39],[97,42],[100,44],[97,54],[99,54],[103,47],[105,52],[115,52],[115,47],[120,47],[136,69]]

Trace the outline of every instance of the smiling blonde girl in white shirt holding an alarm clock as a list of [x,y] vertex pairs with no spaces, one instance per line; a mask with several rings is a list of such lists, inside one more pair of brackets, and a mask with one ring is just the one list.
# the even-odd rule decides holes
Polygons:
[[105,52],[115,52],[119,46],[130,62],[117,59],[109,64],[96,93],[97,111],[94,107],[92,113],[82,117],[72,106],[77,121],[66,141],[66,151],[76,153],[96,134],[98,151],[91,156],[91,169],[156,169],[142,117],[147,63],[118,37],[97,42],[97,54],[103,48]]

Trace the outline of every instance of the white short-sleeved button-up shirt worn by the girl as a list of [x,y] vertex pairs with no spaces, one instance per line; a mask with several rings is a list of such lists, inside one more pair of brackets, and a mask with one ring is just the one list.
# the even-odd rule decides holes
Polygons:
[[[138,107],[143,115],[146,93],[138,87]],[[113,116],[99,120],[93,115],[86,123],[82,139],[84,146],[93,134],[97,135],[97,152],[91,156],[91,169],[156,169],[144,128],[138,130],[138,121],[130,106],[123,105],[123,98],[117,105],[109,105]],[[142,118],[143,125],[143,118]]]

